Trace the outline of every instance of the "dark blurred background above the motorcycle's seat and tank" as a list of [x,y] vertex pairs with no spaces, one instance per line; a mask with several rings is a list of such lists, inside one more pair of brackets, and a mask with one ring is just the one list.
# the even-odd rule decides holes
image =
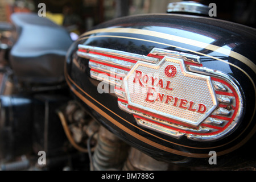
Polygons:
[[[168,3],[180,0],[0,0],[0,22],[10,22],[15,12],[38,13],[46,5],[46,18],[81,34],[93,26],[120,16],[166,13]],[[256,27],[256,0],[197,0],[217,5],[217,18]]]

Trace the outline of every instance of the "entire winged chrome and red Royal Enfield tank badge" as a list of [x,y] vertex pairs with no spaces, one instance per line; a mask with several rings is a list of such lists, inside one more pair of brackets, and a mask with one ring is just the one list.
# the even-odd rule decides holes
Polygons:
[[[176,139],[212,141],[230,134],[242,114],[234,78],[203,67],[200,57],[154,48],[147,56],[79,45],[90,76],[115,86],[120,109],[141,127]],[[114,70],[114,73],[113,73]]]

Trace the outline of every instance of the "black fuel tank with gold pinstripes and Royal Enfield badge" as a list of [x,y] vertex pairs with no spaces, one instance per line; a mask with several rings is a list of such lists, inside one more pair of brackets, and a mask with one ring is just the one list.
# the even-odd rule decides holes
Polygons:
[[147,155],[204,166],[214,151],[218,164],[246,162],[254,159],[255,47],[255,29],[240,24],[136,15],[81,35],[64,72],[80,104]]

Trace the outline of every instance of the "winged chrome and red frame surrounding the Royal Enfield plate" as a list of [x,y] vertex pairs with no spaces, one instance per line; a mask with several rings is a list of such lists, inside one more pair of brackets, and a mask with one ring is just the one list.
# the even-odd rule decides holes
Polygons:
[[[93,52],[98,52],[100,54],[95,54]],[[114,65],[115,77],[112,79],[103,80],[103,81],[107,82],[108,84],[119,86],[120,88],[122,88],[122,89],[115,89],[115,94],[118,97],[118,106],[120,109],[125,110],[127,113],[130,113],[133,115],[135,114],[134,117],[138,115],[138,117],[135,117],[135,120],[137,121],[139,126],[146,127],[150,130],[157,131],[158,133],[162,133],[164,135],[169,135],[176,139],[179,139],[185,135],[187,136],[188,139],[202,141],[202,142],[218,140],[232,133],[232,131],[238,125],[238,121],[241,120],[241,117],[243,115],[243,91],[241,89],[240,84],[233,77],[220,71],[215,71],[213,69],[202,67],[200,56],[197,56],[197,55],[191,55],[183,52],[170,51],[170,50],[160,49],[160,48],[152,49],[152,51],[149,54],[162,56],[164,57],[163,59],[166,59],[168,58],[168,56],[170,56],[171,59],[183,60],[183,64],[184,64],[184,61],[193,63],[192,65],[189,65],[189,64],[183,65],[184,71],[188,72],[189,74],[196,74],[196,75],[199,74],[200,76],[203,75],[203,76],[217,77],[217,78],[220,78],[221,80],[225,80],[226,82],[228,82],[228,84],[232,85],[232,88],[237,93],[238,100],[240,103],[238,105],[236,117],[233,119],[232,123],[228,127],[226,127],[225,130],[221,131],[216,135],[203,135],[205,133],[217,131],[217,129],[214,129],[214,127],[209,128],[209,127],[200,125],[199,127],[197,127],[197,129],[195,129],[191,127],[184,127],[183,125],[177,125],[175,123],[164,123],[164,125],[172,127],[172,129],[174,129],[172,130],[167,127],[155,125],[153,121],[155,123],[160,122],[162,124],[163,124],[163,121],[160,121],[161,119],[159,120],[155,117],[152,117],[151,115],[140,113],[138,111],[134,111],[128,108],[129,104],[127,102],[126,90],[123,89],[123,79],[127,77],[127,75],[129,75],[131,70],[135,68],[136,64],[143,63],[143,64],[150,64],[152,66],[155,66],[156,64],[159,64],[160,61],[162,61],[163,59],[158,59],[156,57],[151,57],[151,56],[138,55],[138,54],[124,52],[124,51],[117,51],[117,50],[108,49],[108,48],[99,48],[99,47],[84,46],[84,45],[79,45],[79,50],[77,51],[77,55],[90,60],[89,67],[91,68],[90,75],[92,78],[97,79],[98,72],[105,72],[110,74],[112,67],[111,66],[109,67],[109,65]],[[134,63],[127,62],[127,61],[124,61],[123,59],[131,59],[131,60],[134,60],[135,62]],[[94,62],[92,60],[94,60]],[[109,80],[111,81],[109,82]],[[226,88],[226,86],[222,85],[221,83],[212,81],[212,86],[214,87],[213,88],[214,90],[218,90],[220,92],[229,92],[229,89]],[[233,98],[229,96],[216,95],[217,105],[219,104],[230,105],[232,104],[232,100]],[[147,110],[146,107],[144,109]],[[226,117],[229,117],[229,115],[232,114],[232,112],[230,112],[229,110],[223,109],[221,107],[216,108],[212,113],[218,114],[218,115],[225,115]],[[139,117],[143,117],[144,120],[140,119]],[[221,127],[221,126],[225,126],[226,123],[228,123],[228,121],[208,117],[208,118],[205,118],[203,123],[206,125]],[[196,134],[180,133],[175,129],[189,131],[191,133],[196,132]]]

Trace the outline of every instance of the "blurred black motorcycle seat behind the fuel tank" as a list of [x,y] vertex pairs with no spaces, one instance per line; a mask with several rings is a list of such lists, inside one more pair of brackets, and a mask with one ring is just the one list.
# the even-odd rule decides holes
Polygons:
[[71,37],[63,28],[37,14],[11,15],[18,38],[10,52],[19,81],[56,84],[64,81],[64,62]]

